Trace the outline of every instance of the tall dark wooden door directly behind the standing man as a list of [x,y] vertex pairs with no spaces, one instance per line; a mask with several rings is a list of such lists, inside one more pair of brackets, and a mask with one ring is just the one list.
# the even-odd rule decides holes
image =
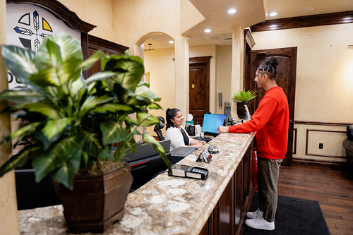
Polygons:
[[258,92],[258,97],[251,102],[251,113],[255,112],[258,107],[265,90],[258,89],[254,82],[256,69],[264,61],[275,56],[280,64],[277,67],[276,83],[279,85],[287,95],[289,104],[289,130],[288,130],[288,149],[282,165],[292,165],[293,152],[293,129],[294,129],[294,100],[295,100],[295,80],[297,71],[297,47],[265,49],[252,51],[249,56],[249,74],[244,80],[244,90],[255,90]]

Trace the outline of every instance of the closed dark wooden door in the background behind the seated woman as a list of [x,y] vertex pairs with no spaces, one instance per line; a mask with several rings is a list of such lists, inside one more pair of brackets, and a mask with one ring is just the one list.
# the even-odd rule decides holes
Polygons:
[[189,59],[189,113],[202,126],[203,114],[210,111],[210,58],[212,56]]

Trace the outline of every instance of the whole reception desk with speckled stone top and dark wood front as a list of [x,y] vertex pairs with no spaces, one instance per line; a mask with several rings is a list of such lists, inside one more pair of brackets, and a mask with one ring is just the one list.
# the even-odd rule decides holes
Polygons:
[[[240,234],[251,190],[253,137],[218,135],[179,162],[207,168],[206,180],[162,173],[129,193],[123,219],[104,235]],[[208,145],[217,145],[220,152],[210,163],[196,162]],[[66,234],[62,210],[55,205],[18,211],[21,234]]]

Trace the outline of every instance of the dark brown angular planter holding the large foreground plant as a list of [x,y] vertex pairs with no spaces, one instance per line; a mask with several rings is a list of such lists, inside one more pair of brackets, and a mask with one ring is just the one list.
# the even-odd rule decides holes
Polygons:
[[73,191],[54,183],[70,233],[102,233],[124,215],[133,176],[124,167],[99,176],[76,176]]

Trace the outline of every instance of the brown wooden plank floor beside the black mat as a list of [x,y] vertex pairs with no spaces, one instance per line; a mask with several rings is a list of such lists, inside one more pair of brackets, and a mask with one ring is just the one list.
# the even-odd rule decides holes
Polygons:
[[353,234],[353,180],[337,167],[280,168],[278,195],[317,200],[332,235]]

